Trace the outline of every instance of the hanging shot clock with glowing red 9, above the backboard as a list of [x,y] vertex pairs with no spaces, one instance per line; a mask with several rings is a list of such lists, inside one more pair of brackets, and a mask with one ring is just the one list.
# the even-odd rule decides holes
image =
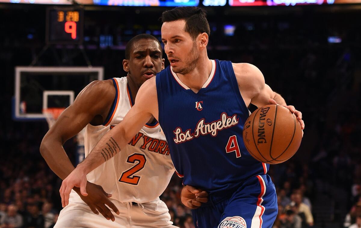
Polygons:
[[80,8],[47,9],[48,44],[81,44],[83,42],[83,10]]

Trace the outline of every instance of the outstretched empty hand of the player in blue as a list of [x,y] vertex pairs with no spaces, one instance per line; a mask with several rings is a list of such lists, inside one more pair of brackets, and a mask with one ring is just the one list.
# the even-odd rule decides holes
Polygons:
[[61,196],[61,206],[65,207],[69,204],[69,195],[71,189],[74,187],[80,188],[80,193],[84,196],[87,196],[87,176],[79,168],[75,168],[61,183],[60,187],[60,196]]

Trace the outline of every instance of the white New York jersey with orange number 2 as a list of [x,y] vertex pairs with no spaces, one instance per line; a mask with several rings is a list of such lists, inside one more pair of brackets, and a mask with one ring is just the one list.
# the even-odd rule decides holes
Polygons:
[[[86,126],[85,156],[105,133],[123,120],[132,107],[127,78],[112,80],[116,88],[114,103],[104,125]],[[173,172],[168,143],[157,122],[153,126],[143,126],[123,150],[90,172],[87,179],[101,185],[106,193],[120,202],[145,203],[164,192]]]

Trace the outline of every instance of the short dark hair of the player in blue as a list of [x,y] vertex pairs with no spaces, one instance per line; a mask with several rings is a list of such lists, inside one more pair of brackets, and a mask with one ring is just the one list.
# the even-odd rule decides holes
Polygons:
[[184,30],[189,33],[194,40],[200,33],[206,33],[209,36],[210,29],[206,16],[206,11],[199,7],[177,7],[164,11],[160,19],[162,22],[186,21]]

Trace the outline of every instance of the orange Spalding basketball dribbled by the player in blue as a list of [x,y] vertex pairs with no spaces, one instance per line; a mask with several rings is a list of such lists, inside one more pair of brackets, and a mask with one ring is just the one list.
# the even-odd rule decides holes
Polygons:
[[285,162],[297,152],[301,139],[299,120],[289,109],[280,105],[258,108],[244,124],[244,144],[249,154],[260,162]]

